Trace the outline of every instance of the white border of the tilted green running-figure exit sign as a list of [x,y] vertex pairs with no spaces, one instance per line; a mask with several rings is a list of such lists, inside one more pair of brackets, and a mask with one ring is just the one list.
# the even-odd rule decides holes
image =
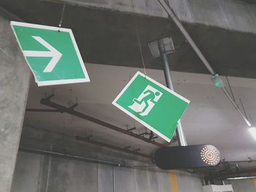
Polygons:
[[113,105],[115,105],[116,107],[118,107],[119,110],[125,112],[127,115],[131,116],[132,118],[134,118],[135,120],[138,120],[139,123],[141,123],[143,126],[146,126],[147,128],[149,128],[151,131],[154,131],[154,133],[158,134],[160,137],[162,137],[163,139],[165,139],[167,142],[170,142],[170,139],[165,137],[165,135],[161,134],[159,131],[157,131],[156,129],[154,129],[153,127],[149,126],[148,123],[145,123],[143,120],[140,120],[140,118],[136,117],[135,115],[133,115],[131,112],[129,112],[128,110],[124,109],[124,107],[121,107],[119,104],[116,103],[116,101],[121,97],[121,95],[124,93],[124,91],[127,91],[127,88],[129,88],[129,85],[132,84],[132,82],[135,80],[136,77],[138,77],[138,75],[146,77],[147,80],[150,80],[151,82],[154,82],[154,84],[158,85],[159,87],[165,89],[166,91],[168,91],[169,93],[173,94],[174,96],[177,96],[179,99],[182,99],[183,101],[187,102],[187,104],[190,103],[190,101],[186,98],[184,98],[184,96],[179,95],[178,93],[170,90],[169,88],[165,87],[165,85],[160,84],[159,82],[151,79],[150,77],[146,76],[145,74],[143,74],[142,72],[137,72],[135,74],[134,77],[132,77],[132,79],[127,83],[127,85],[123,88],[123,90],[121,91],[121,93],[118,94],[118,96],[116,96],[116,99],[112,102]]

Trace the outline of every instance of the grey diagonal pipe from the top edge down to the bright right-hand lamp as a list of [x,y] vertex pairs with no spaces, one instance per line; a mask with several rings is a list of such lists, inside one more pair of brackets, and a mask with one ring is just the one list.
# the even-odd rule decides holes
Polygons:
[[[200,58],[200,60],[203,62],[203,64],[206,66],[206,68],[208,69],[208,71],[212,74],[215,75],[217,74],[216,72],[214,72],[214,69],[211,67],[211,65],[208,63],[208,61],[206,60],[205,56],[203,55],[203,53],[199,50],[199,48],[197,47],[197,45],[195,44],[194,40],[192,39],[192,37],[190,37],[190,35],[188,34],[186,28],[184,28],[184,26],[182,25],[181,21],[178,19],[178,17],[176,16],[175,12],[173,11],[173,9],[171,9],[171,7],[169,5],[167,5],[167,3],[165,2],[165,0],[158,0],[159,4],[161,4],[161,6],[163,7],[163,9],[165,9],[165,12],[167,12],[167,15],[169,16],[169,18],[171,20],[173,20],[173,22],[176,24],[176,26],[178,27],[178,29],[181,31],[181,33],[184,35],[184,37],[187,39],[187,42],[189,42],[189,45],[191,45],[191,47],[193,48],[193,50],[195,50],[195,53],[197,53],[198,57]],[[238,105],[233,101],[233,99],[231,98],[230,94],[227,92],[227,90],[225,88],[222,88],[222,91],[225,93],[225,95],[227,96],[227,99],[229,99],[231,101],[231,103],[233,104],[233,106],[235,107],[235,109],[238,111],[238,113],[241,115],[241,117],[244,119],[244,121],[246,122],[246,124],[248,126],[252,126],[251,123],[249,123],[249,120],[244,116],[243,112],[241,112],[241,110],[239,109]]]

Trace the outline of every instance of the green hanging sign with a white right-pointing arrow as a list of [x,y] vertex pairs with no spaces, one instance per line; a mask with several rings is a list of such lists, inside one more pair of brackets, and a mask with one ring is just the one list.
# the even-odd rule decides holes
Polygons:
[[72,30],[11,21],[39,86],[89,82]]

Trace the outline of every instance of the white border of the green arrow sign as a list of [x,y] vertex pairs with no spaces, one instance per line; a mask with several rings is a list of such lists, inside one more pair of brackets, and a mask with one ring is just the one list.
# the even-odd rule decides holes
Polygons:
[[75,37],[72,33],[72,30],[70,28],[59,28],[59,27],[53,27],[53,26],[42,26],[42,25],[37,25],[37,24],[31,24],[31,23],[22,23],[22,22],[17,22],[17,21],[11,21],[10,22],[11,26],[12,26],[12,31],[15,34],[15,37],[17,39],[18,45],[20,47],[20,50],[23,53],[23,50],[21,48],[20,42],[18,40],[18,37],[15,33],[15,30],[13,28],[13,26],[24,26],[24,27],[30,27],[30,28],[42,28],[42,29],[48,29],[48,30],[52,30],[52,31],[64,31],[64,32],[68,32],[70,35],[70,38],[72,40],[72,43],[75,47],[75,52],[78,55],[78,60],[80,62],[80,66],[83,69],[83,74],[85,75],[85,78],[83,79],[70,79],[70,80],[48,80],[48,81],[38,81],[37,80],[37,76],[34,74],[33,70],[31,69],[31,66],[29,65],[29,61],[26,59],[25,55],[23,54],[23,57],[25,58],[27,64],[29,65],[29,68],[31,69],[31,72],[34,74],[34,79],[37,82],[38,86],[45,86],[45,85],[62,85],[62,84],[69,84],[69,83],[77,83],[77,82],[90,82],[90,78],[89,78],[89,74],[86,70],[86,66],[83,63],[83,58],[80,55],[80,51],[78,49],[78,45],[75,42]]

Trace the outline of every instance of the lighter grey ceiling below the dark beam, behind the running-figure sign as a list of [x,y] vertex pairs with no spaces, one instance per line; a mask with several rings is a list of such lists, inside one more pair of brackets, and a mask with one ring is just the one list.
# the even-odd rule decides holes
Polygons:
[[[38,88],[34,80],[31,80],[27,107],[45,108],[39,104],[39,100],[51,93],[55,94],[53,101],[67,107],[74,104],[78,98],[76,110],[124,129],[136,126],[135,133],[143,133],[146,128],[111,104],[135,72],[142,69],[99,64],[86,66],[91,77],[89,83]],[[147,74],[165,85],[162,71],[148,69]],[[173,72],[173,79],[176,91],[192,101],[182,118],[189,145],[216,145],[222,150],[223,158],[230,161],[246,160],[247,157],[256,158],[255,140],[246,130],[244,120],[222,91],[211,84],[209,75]],[[229,81],[236,101],[240,104],[241,99],[247,115],[255,120],[256,80],[229,77]],[[47,128],[73,137],[86,137],[92,134],[94,139],[102,142],[121,147],[130,145],[133,149],[139,147],[141,153],[152,153],[157,148],[139,139],[67,114],[26,112],[24,125]],[[156,141],[166,143],[163,139]]]

